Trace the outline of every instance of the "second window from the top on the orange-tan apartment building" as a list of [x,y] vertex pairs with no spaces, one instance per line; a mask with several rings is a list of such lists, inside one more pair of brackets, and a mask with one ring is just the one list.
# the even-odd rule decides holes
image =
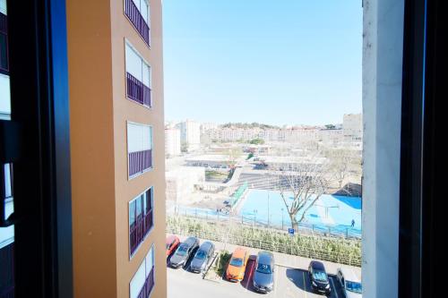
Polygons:
[[151,107],[151,66],[127,41],[125,45],[126,98]]

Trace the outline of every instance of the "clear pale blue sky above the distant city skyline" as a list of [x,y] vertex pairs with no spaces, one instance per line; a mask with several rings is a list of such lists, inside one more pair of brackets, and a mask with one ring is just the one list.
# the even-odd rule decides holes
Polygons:
[[361,112],[361,0],[163,0],[163,26],[167,121]]

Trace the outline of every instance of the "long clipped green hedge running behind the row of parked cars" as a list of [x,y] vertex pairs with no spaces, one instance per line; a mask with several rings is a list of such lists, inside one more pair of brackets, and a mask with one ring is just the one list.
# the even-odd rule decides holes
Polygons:
[[340,251],[325,251],[321,249],[315,249],[312,246],[297,245],[293,241],[287,243],[284,242],[280,243],[274,241],[266,241],[262,239],[254,240],[254,239],[248,239],[247,237],[235,236],[225,229],[222,229],[222,233],[217,233],[216,231],[204,231],[203,229],[200,228],[192,228],[192,227],[186,228],[185,226],[177,226],[177,225],[167,225],[166,232],[167,234],[195,236],[201,239],[207,239],[220,243],[231,243],[259,250],[276,251],[293,256],[300,256],[315,260],[327,260],[334,263],[361,267],[360,254],[340,252]]

